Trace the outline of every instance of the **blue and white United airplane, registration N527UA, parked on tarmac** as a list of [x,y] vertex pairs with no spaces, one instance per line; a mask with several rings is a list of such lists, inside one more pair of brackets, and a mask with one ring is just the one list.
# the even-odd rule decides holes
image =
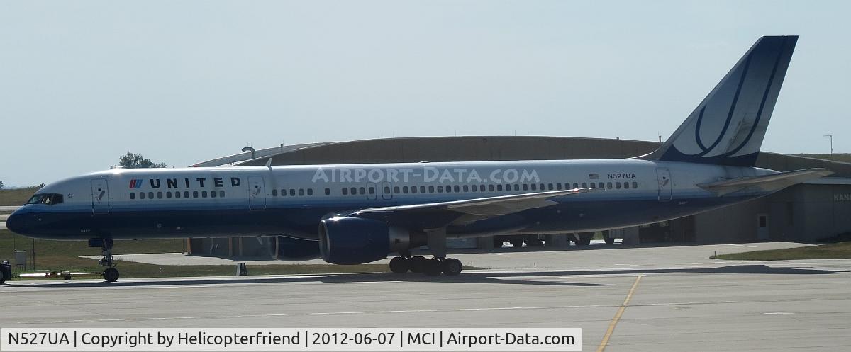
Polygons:
[[[38,190],[6,221],[23,236],[89,240],[117,281],[113,240],[285,236],[291,258],[391,259],[458,275],[447,237],[650,224],[830,174],[754,167],[797,37],[762,37],[659,150],[614,160],[114,169]],[[434,258],[412,257],[428,245]]]

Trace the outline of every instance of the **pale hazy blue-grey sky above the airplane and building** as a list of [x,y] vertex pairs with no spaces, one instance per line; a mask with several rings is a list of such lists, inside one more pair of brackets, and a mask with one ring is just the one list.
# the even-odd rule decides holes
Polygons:
[[391,136],[665,139],[800,35],[762,150],[851,151],[851,2],[0,3],[0,180]]

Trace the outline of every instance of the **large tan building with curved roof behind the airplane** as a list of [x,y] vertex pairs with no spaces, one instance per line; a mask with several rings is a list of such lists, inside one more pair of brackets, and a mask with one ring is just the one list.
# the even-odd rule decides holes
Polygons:
[[[223,156],[195,167],[313,165],[382,162],[471,162],[512,160],[608,159],[641,156],[656,142],[572,137],[414,137],[280,145]],[[622,243],[719,243],[748,241],[816,241],[851,232],[851,163],[761,152],[757,167],[791,171],[825,167],[833,174],[793,185],[770,196],[681,219],[635,228],[613,229]],[[676,182],[677,175],[671,179]],[[547,246],[567,246],[568,236],[542,236]],[[197,254],[268,257],[277,251],[274,238],[198,238],[189,241]],[[450,247],[492,248],[491,239],[457,239]],[[527,243],[528,245],[528,243]]]

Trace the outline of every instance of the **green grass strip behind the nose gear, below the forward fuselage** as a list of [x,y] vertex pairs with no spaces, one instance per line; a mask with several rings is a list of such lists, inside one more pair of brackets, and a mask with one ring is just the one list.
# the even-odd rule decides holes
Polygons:
[[[113,255],[138,253],[180,253],[183,240],[116,241]],[[68,270],[71,272],[100,272],[97,260],[79,258],[83,255],[100,255],[100,248],[89,248],[86,241],[33,240],[36,248],[36,270],[44,272]],[[9,230],[0,230],[0,258],[14,260],[14,249],[27,251],[30,239]],[[319,273],[387,272],[386,264],[334,265],[334,264],[272,264],[252,265],[246,262],[249,275],[294,275]],[[12,263],[14,265],[14,262]],[[236,264],[225,265],[156,265],[118,261],[122,278],[220,276],[234,275]],[[14,267],[13,267],[14,271]],[[26,279],[37,280],[37,279]]]

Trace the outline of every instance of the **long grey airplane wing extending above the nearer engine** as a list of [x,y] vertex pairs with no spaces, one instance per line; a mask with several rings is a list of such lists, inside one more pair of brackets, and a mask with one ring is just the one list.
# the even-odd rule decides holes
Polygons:
[[488,196],[451,202],[431,202],[394,207],[371,207],[352,213],[350,216],[381,219],[390,223],[406,222],[420,224],[422,228],[446,224],[469,224],[500,215],[519,213],[538,207],[549,207],[556,202],[549,198],[571,196],[597,190],[580,188],[573,190],[547,190],[508,196]]

